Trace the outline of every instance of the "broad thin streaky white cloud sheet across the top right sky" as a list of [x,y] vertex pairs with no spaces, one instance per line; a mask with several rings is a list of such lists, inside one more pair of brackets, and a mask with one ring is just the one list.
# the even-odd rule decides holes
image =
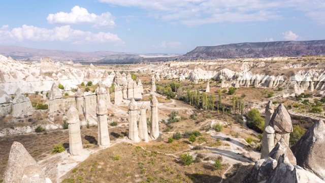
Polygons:
[[266,21],[284,18],[285,10],[298,10],[306,16],[325,23],[325,2],[309,0],[99,0],[113,6],[137,7],[163,21],[185,25],[218,22]]

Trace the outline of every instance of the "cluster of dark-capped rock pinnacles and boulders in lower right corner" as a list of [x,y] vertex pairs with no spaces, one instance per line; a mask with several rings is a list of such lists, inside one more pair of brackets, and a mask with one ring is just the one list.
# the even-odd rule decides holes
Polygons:
[[325,124],[318,120],[289,147],[293,132],[291,118],[283,104],[274,111],[270,101],[265,110],[261,160],[242,182],[325,182]]

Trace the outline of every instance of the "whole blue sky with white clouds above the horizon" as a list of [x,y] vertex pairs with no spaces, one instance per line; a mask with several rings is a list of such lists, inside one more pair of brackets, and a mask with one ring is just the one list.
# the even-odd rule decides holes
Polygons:
[[197,46],[325,40],[325,0],[10,0],[0,45],[185,54]]

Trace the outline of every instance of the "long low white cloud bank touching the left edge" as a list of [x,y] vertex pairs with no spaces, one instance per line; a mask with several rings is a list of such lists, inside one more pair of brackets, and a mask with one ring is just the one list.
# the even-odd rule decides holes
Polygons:
[[72,29],[70,25],[54,27],[53,29],[40,28],[32,25],[22,25],[22,27],[12,30],[0,30],[0,43],[22,41],[61,41],[77,43],[106,43],[114,42],[123,44],[124,42],[112,33],[91,33]]

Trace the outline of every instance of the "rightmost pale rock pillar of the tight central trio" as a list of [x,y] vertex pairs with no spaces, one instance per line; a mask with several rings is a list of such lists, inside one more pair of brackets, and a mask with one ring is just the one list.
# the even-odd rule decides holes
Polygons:
[[150,137],[156,139],[159,136],[158,100],[156,96],[152,96],[152,99],[150,101],[150,107],[151,107]]

